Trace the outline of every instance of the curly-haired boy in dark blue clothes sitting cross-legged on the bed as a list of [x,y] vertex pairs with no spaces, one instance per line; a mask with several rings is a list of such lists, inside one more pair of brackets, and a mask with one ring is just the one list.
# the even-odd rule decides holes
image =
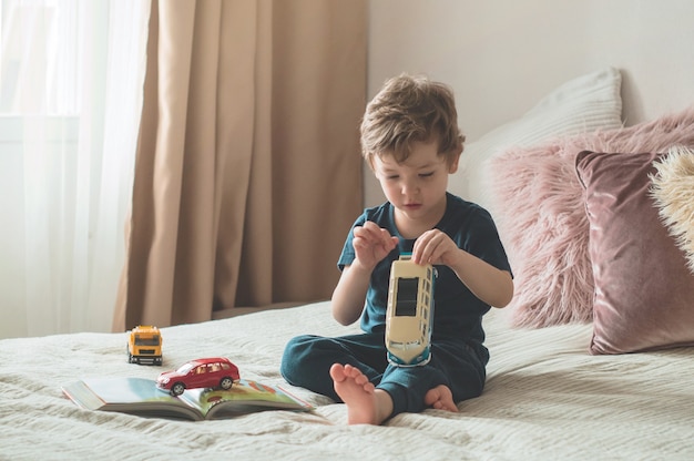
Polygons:
[[[361,318],[364,334],[293,338],[282,361],[287,382],[345,402],[350,424],[427,407],[458,411],[457,401],[482,392],[482,316],[511,300],[513,281],[489,213],[447,192],[463,141],[441,83],[402,74],[367,105],[363,154],[388,202],[355,222],[331,298],[335,319]],[[431,360],[420,367],[392,366],[386,355],[389,273],[400,253],[438,270]]]

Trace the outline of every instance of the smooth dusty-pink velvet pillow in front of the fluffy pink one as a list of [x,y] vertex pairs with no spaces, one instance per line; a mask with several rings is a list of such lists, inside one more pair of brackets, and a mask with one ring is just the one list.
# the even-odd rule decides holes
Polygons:
[[591,354],[694,344],[694,274],[650,193],[662,155],[576,156],[595,286]]

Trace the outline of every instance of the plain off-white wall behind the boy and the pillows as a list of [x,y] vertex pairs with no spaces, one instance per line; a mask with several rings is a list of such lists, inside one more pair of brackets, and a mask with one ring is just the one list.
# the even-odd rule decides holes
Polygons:
[[606,65],[626,125],[694,103],[692,0],[370,0],[369,14],[368,98],[400,72],[447,82],[468,141]]

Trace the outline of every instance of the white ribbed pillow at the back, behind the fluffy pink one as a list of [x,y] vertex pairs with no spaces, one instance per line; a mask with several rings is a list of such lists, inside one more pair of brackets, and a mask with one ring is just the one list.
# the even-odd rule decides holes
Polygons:
[[520,119],[468,143],[450,192],[494,214],[488,161],[508,147],[530,147],[545,140],[622,126],[622,76],[606,68],[573,79],[540,100]]

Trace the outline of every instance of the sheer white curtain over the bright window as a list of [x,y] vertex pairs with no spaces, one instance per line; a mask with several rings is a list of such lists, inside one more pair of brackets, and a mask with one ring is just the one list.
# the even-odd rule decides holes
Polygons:
[[0,338],[110,331],[144,0],[0,0]]

